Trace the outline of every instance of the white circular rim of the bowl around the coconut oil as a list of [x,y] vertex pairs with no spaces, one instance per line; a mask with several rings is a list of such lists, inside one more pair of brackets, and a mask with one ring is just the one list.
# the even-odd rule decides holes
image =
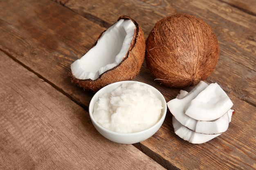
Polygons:
[[[94,117],[93,117],[93,115],[92,115],[92,111],[93,111],[93,108],[94,108],[94,104],[92,104],[92,103],[94,102],[95,98],[98,98],[99,94],[100,94],[102,91],[105,91],[105,90],[106,90],[106,88],[109,88],[110,86],[115,86],[116,84],[120,84],[120,85],[121,85],[122,83],[131,83],[131,82],[136,82],[136,83],[139,83],[139,84],[144,84],[144,85],[146,85],[146,86],[149,86],[150,88],[153,89],[153,93],[155,93],[155,94],[158,93],[157,96],[160,96],[160,97],[161,97],[161,98],[159,98],[159,99],[161,100],[162,105],[164,105],[163,108],[162,108],[161,118],[160,118],[153,126],[151,126],[150,128],[147,128],[147,129],[142,130],[142,131],[139,131],[139,132],[120,133],[120,132],[115,132],[115,131],[108,130],[108,129],[104,128],[103,126],[101,126],[101,125],[94,119]],[[97,101],[96,101],[96,102],[97,102]],[[95,102],[95,103],[96,103],[96,102]],[[139,135],[139,134],[142,134],[142,133],[144,133],[144,132],[146,132],[146,131],[153,130],[156,126],[159,126],[159,124],[161,124],[161,125],[160,125],[160,127],[161,127],[161,126],[162,126],[162,123],[164,122],[164,119],[165,119],[165,117],[166,117],[166,113],[167,113],[167,103],[166,103],[166,99],[164,98],[164,96],[162,95],[162,93],[161,93],[159,90],[157,90],[157,88],[155,88],[154,86],[151,86],[150,84],[147,84],[147,83],[144,83],[144,82],[135,81],[135,80],[124,80],[124,81],[119,81],[119,82],[114,82],[114,83],[108,84],[107,86],[104,86],[104,87],[101,88],[99,91],[97,91],[97,92],[93,95],[92,99],[90,100],[88,110],[89,110],[89,115],[90,115],[90,118],[91,118],[92,123],[93,123],[93,124],[96,124],[97,127],[100,128],[101,130],[103,130],[103,131],[105,131],[105,132],[108,132],[108,133],[110,133],[110,134],[112,134],[112,135],[128,136],[128,135]]]

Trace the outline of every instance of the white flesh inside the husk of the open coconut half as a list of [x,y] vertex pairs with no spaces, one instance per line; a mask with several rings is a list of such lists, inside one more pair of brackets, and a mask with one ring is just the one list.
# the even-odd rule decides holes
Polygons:
[[77,79],[99,78],[102,73],[119,65],[130,48],[136,26],[132,20],[120,19],[97,40],[97,44],[71,64]]

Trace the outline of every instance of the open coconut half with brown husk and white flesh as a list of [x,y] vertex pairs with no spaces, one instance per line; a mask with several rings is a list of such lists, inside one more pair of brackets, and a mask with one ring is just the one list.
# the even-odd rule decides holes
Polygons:
[[141,27],[132,18],[121,16],[71,64],[71,81],[95,92],[113,82],[133,79],[140,71],[145,49]]

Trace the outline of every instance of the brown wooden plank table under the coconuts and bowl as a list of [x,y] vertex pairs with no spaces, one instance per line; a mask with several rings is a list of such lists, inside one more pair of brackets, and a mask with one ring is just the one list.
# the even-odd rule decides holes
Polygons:
[[[116,144],[92,126],[93,93],[70,82],[70,64],[121,15],[145,38],[167,15],[188,13],[216,33],[220,59],[206,80],[227,92],[236,114],[229,129],[204,144],[173,132],[168,111],[141,143]],[[0,169],[256,169],[256,0],[0,0]],[[134,80],[161,91],[144,62]],[[183,88],[189,90],[190,88]]]

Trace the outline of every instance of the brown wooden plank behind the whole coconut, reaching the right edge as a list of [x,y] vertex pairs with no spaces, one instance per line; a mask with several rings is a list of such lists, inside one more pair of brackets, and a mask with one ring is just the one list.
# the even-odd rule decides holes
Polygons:
[[218,82],[225,91],[256,106],[255,15],[216,0],[69,0],[65,6],[85,17],[85,13],[91,13],[109,23],[120,15],[129,15],[140,24],[146,38],[155,22],[167,15],[190,13],[202,18],[212,27],[220,44],[220,60],[207,81]]

